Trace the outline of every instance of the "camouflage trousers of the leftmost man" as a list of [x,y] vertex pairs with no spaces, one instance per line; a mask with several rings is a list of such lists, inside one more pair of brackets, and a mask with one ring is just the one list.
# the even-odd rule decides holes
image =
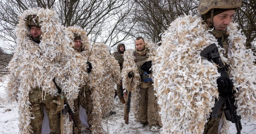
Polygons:
[[30,125],[34,134],[41,134],[42,122],[44,119],[43,107],[47,110],[49,118],[50,134],[61,133],[61,112],[56,112],[58,105],[56,104],[57,97],[52,97],[50,94],[46,94],[45,100],[41,97],[41,90],[34,90],[29,93],[29,101],[31,103],[32,117]]

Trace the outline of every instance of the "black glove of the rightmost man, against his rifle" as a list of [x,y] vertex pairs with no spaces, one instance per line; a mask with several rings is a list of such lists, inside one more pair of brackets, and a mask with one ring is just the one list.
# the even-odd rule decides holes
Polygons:
[[233,83],[229,77],[221,74],[221,77],[217,79],[218,92],[220,96],[226,96],[233,94]]

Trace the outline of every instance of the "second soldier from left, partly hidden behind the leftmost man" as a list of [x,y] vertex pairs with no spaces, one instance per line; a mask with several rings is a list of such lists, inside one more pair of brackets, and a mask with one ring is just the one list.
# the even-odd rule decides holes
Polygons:
[[[88,114],[90,115],[92,110],[92,100],[90,97],[91,91],[90,87],[88,87],[88,85],[86,84],[86,79],[88,79],[88,77],[87,75],[84,75],[84,72],[90,74],[90,72],[92,71],[92,64],[89,61],[86,61],[87,59],[83,54],[85,51],[87,51],[86,53],[88,53],[90,43],[85,31],[81,30],[81,28],[73,26],[68,27],[68,29],[69,31],[72,31],[73,36],[71,37],[74,38],[74,44],[72,47],[77,53],[79,53],[79,55],[76,55],[77,62],[81,63],[81,88],[79,91],[79,97],[76,100],[74,100],[74,118],[77,124],[77,128],[74,126],[74,129],[76,131],[76,134],[91,134],[90,125],[88,124]],[[85,112],[82,113],[81,111]],[[89,117],[89,120],[90,119],[91,117]]]

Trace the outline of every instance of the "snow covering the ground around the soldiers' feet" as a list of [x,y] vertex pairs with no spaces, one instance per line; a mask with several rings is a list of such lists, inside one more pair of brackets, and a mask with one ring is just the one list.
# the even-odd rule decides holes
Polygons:
[[[1,81],[1,79],[3,79]],[[0,134],[18,134],[18,106],[17,103],[9,104],[6,99],[6,79],[0,77]],[[160,134],[149,130],[148,125],[142,127],[140,122],[135,121],[134,114],[130,111],[129,124],[124,121],[125,104],[119,102],[119,98],[114,99],[113,110],[116,114],[109,115],[103,120],[102,128],[106,134]],[[244,123],[241,134],[256,134],[256,122]],[[236,134],[235,124],[230,128],[232,134]]]

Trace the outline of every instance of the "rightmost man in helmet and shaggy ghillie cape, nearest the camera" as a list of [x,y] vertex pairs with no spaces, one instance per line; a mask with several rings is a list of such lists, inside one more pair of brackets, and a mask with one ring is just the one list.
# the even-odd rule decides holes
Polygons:
[[[236,105],[238,116],[256,120],[256,57],[231,22],[240,6],[241,0],[201,0],[202,17],[179,17],[163,33],[153,65],[163,134],[230,133],[223,112],[228,103],[220,106],[217,117],[212,116],[215,102],[224,97]],[[219,53],[225,66],[201,56],[208,46],[218,48],[211,52]],[[225,67],[228,76],[220,71]]]

